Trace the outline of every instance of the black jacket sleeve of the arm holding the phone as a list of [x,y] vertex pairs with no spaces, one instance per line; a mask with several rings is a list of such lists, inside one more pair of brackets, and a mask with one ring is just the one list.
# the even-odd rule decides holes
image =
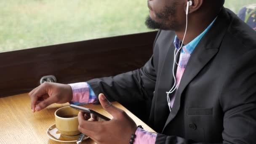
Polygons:
[[[223,144],[256,143],[256,49],[244,53],[224,74],[219,100],[224,112]],[[194,144],[177,136],[157,134],[156,144]],[[206,144],[206,143],[196,143]]]

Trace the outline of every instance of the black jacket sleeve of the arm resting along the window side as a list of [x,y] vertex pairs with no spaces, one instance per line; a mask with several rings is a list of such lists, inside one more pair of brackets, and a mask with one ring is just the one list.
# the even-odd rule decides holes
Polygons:
[[[159,35],[160,31],[157,33],[155,42]],[[138,103],[139,101],[152,99],[156,83],[156,70],[153,59],[154,54],[140,69],[114,77],[96,78],[89,80],[87,83],[97,97],[99,93],[104,93],[109,101],[118,101],[121,104],[132,104],[133,102]]]

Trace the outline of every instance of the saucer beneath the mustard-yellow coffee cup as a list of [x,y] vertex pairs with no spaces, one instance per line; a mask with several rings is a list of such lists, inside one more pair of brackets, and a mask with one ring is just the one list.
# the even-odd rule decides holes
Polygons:
[[[56,128],[56,125],[51,125],[48,130],[47,130],[47,136],[52,139],[53,141],[59,141],[59,142],[64,142],[64,143],[71,143],[71,142],[76,142],[79,135],[77,136],[63,136],[61,133],[58,131]],[[85,136],[83,140],[88,139],[89,136]]]

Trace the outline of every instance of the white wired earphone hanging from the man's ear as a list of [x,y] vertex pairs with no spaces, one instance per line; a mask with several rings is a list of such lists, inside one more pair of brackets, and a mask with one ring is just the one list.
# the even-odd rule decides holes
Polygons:
[[[178,51],[175,52],[175,51],[176,51],[176,48],[175,48],[175,50],[174,50],[174,61],[173,61],[173,78],[174,78],[174,84],[173,84],[173,87],[171,88],[171,90],[168,91],[168,92],[166,92],[166,93],[167,93],[167,102],[168,102],[168,107],[169,107],[170,112],[171,112],[171,99],[170,99],[170,97],[169,97],[169,94],[170,94],[170,93],[173,93],[173,92],[175,91],[175,89],[178,88],[178,85],[179,85],[179,83],[181,82],[181,77],[180,77],[180,80],[179,80],[179,82],[178,82],[177,85],[176,85],[176,77],[175,77],[175,75],[174,75],[174,65],[177,64],[177,66],[178,66],[177,69],[179,68],[180,72],[182,73],[181,67],[179,66],[179,64],[178,64],[177,61],[176,61],[176,56],[177,56],[177,54],[179,53],[179,51],[181,50],[181,48],[182,48],[182,46],[183,46],[183,42],[184,42],[184,39],[185,39],[185,36],[186,36],[186,33],[187,33],[187,23],[188,23],[188,22],[187,22],[187,17],[188,17],[188,14],[189,14],[189,6],[191,6],[192,4],[193,4],[192,0],[187,1],[187,9],[186,9],[186,29],[185,29],[184,37],[183,37],[183,40],[182,40],[182,42],[181,42],[181,47],[178,49]],[[181,75],[182,75],[182,74],[181,74]]]

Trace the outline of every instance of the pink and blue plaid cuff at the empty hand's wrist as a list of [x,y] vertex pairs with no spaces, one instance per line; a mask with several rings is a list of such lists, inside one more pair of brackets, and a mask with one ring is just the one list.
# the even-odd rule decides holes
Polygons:
[[73,98],[71,102],[69,102],[70,104],[89,104],[97,101],[97,98],[88,83],[72,83],[69,85],[73,91]]

